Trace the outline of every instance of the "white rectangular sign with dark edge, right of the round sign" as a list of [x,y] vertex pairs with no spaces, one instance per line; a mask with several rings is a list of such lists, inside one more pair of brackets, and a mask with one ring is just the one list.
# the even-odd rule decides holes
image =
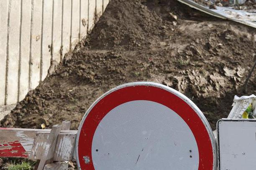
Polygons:
[[256,120],[221,119],[217,123],[220,170],[254,170]]

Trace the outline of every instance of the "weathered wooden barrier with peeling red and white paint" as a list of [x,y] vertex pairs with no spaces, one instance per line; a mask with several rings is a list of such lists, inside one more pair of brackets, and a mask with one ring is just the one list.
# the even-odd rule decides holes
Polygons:
[[69,121],[52,129],[0,128],[0,157],[40,160],[37,170],[67,169],[77,135],[77,130],[69,128]]

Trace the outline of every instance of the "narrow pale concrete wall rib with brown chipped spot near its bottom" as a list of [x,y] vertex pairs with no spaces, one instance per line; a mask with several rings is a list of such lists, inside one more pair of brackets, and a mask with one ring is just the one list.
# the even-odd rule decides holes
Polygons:
[[88,0],[80,0],[80,41],[87,35]]

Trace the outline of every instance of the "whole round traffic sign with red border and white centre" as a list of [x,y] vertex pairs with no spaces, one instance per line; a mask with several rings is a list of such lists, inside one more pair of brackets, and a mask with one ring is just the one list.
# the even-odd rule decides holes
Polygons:
[[176,90],[133,82],[106,92],[87,110],[76,142],[82,170],[215,170],[212,130]]

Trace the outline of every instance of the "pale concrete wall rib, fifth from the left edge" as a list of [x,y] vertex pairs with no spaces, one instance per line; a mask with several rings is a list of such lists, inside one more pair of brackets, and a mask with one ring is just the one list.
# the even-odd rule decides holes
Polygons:
[[41,39],[41,81],[45,79],[48,74],[48,69],[51,65],[51,22],[52,22],[52,3],[44,0],[44,13],[42,25],[42,39]]

